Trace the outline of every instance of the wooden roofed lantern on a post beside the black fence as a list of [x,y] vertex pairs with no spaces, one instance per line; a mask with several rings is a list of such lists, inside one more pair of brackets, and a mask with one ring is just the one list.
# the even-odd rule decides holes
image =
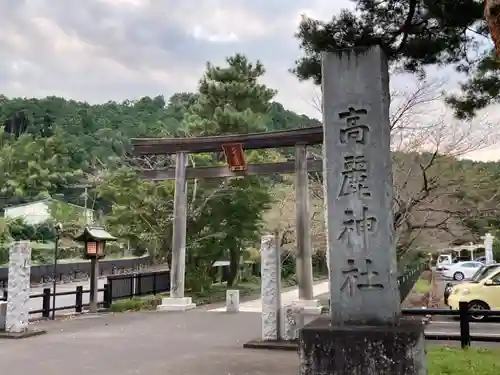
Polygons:
[[104,228],[97,226],[85,227],[83,232],[75,237],[75,241],[83,242],[85,258],[90,259],[90,312],[97,312],[97,291],[99,277],[99,259],[105,257],[107,241],[116,241],[116,237],[109,234]]

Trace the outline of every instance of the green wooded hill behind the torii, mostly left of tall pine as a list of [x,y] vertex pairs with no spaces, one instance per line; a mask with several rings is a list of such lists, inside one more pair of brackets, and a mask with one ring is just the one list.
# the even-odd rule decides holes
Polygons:
[[[0,96],[0,209],[48,194],[75,200],[82,190],[67,186],[123,165],[130,138],[189,135],[183,116],[196,98],[178,93],[90,105],[58,97]],[[263,121],[267,131],[317,125],[276,102]]]

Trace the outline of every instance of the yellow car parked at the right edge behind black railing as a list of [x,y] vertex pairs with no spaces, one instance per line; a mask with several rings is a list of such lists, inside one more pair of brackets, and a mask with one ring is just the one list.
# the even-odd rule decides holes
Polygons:
[[[457,310],[461,301],[467,302],[470,310],[500,310],[500,271],[497,269],[480,281],[455,285],[448,306]],[[481,314],[472,314],[471,317],[476,321],[485,318]]]

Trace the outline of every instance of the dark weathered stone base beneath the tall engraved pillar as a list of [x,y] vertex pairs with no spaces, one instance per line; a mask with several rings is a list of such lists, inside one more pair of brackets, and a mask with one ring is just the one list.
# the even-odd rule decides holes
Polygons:
[[320,317],[300,331],[300,375],[427,375],[424,326],[332,326]]

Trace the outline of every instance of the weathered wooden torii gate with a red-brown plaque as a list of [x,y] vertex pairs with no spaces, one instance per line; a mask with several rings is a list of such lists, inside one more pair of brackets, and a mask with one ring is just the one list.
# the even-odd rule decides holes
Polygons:
[[[308,172],[322,172],[321,160],[307,159],[307,146],[323,143],[323,127],[311,127],[279,132],[238,134],[192,138],[132,139],[136,155],[176,155],[176,166],[164,170],[142,170],[143,179],[175,180],[174,223],[172,237],[171,291],[162,301],[160,310],[185,311],[194,308],[185,297],[185,258],[187,220],[187,180],[195,178],[227,178],[236,176],[295,173],[297,277],[299,304],[305,308],[318,305],[313,294],[312,249],[309,217]],[[244,150],[295,147],[295,161],[248,164]],[[227,167],[188,167],[189,153],[224,151]]]

